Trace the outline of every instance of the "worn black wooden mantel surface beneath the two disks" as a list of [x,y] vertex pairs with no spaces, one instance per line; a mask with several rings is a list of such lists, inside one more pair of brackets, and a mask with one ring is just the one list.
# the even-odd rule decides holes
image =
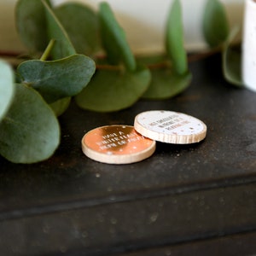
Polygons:
[[[0,158],[1,255],[256,254],[256,93],[225,82],[218,55],[189,68],[189,89],[169,100],[117,113],[73,103],[49,160]],[[131,165],[84,156],[86,131],[133,125],[147,110],[193,115],[207,124],[207,138],[157,143],[152,157]]]

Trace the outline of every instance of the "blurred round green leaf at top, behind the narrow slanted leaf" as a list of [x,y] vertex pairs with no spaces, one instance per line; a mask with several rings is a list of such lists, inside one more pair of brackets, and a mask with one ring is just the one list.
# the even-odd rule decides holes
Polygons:
[[92,9],[81,3],[65,3],[54,12],[78,53],[93,55],[101,49],[98,16]]

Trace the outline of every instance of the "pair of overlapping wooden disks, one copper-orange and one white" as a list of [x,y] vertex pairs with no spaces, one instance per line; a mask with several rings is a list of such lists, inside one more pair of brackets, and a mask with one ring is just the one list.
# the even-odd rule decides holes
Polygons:
[[131,164],[154,154],[155,141],[199,143],[207,125],[185,113],[154,110],[137,114],[134,126],[108,125],[88,131],[82,139],[86,156],[107,164]]

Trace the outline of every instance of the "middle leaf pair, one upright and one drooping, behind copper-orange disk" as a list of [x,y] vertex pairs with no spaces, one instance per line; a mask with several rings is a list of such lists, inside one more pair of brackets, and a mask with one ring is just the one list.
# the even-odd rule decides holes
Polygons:
[[[108,3],[100,4],[102,44],[107,62],[90,84],[76,96],[80,108],[99,112],[128,108],[143,96],[151,79],[147,67],[138,66],[125,32],[119,26]],[[107,65],[106,65],[107,64]]]

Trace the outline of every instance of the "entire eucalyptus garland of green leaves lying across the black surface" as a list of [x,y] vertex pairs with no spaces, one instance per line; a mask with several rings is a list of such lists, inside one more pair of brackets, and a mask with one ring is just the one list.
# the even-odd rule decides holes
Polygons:
[[[128,108],[141,97],[166,99],[183,92],[192,79],[183,47],[182,7],[174,0],[166,20],[166,52],[136,58],[108,3],[96,13],[81,3],[54,6],[49,0],[18,0],[17,31],[29,53],[17,81],[0,61],[0,154],[15,163],[48,159],[60,143],[56,116],[71,99],[99,112]],[[223,49],[225,78],[241,85],[241,53],[232,47],[224,6],[207,0],[203,34]],[[96,57],[104,51],[106,58]],[[79,53],[79,54],[78,54]],[[94,57],[92,60],[90,57]]]

